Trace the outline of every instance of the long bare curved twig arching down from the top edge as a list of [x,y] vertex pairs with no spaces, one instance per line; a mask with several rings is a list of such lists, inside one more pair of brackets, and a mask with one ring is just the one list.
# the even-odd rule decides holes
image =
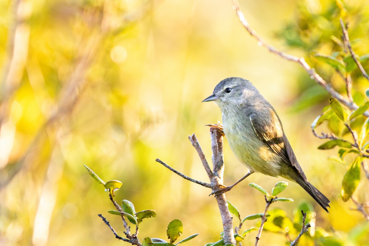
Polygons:
[[[267,48],[271,53],[276,54],[277,56],[292,61],[292,62],[296,62],[298,63],[307,73],[308,75],[311,77],[311,79],[314,79],[315,82],[317,82],[321,87],[324,88],[324,90],[326,90],[332,97],[336,98],[340,103],[342,103],[343,105],[345,105],[346,107],[348,107],[351,110],[355,110],[356,108],[358,108],[358,106],[352,102],[347,100],[345,97],[343,97],[341,94],[339,94],[336,90],[333,89],[333,87],[328,84],[320,75],[318,75],[317,72],[315,72],[314,68],[311,68],[307,62],[305,61],[304,58],[302,57],[297,57],[297,56],[293,56],[287,53],[284,53],[280,50],[278,50],[277,48],[275,48],[272,45],[269,45],[267,42],[265,42],[265,40],[263,38],[261,38],[255,30],[253,30],[249,23],[246,21],[244,14],[241,11],[241,8],[239,7],[238,1],[237,0],[232,0],[233,4],[234,4],[234,9],[236,10],[236,13],[238,15],[239,20],[241,21],[242,25],[246,28],[246,30],[249,32],[249,34],[256,38],[256,40],[258,41],[258,44],[260,46],[264,46],[265,48]],[[369,112],[366,111],[364,113],[364,115],[366,117],[369,117]]]

